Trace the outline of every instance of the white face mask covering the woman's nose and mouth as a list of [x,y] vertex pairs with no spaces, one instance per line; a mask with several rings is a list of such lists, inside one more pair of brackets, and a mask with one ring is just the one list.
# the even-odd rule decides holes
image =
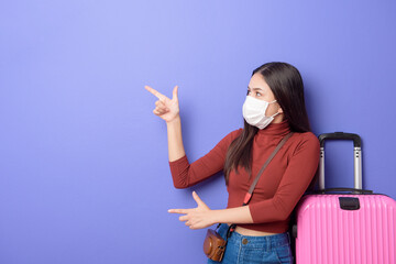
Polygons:
[[242,107],[243,118],[250,125],[254,125],[258,129],[265,129],[274,120],[274,117],[279,113],[277,112],[271,117],[265,117],[265,111],[270,103],[274,102],[276,102],[276,100],[267,102],[248,96]]

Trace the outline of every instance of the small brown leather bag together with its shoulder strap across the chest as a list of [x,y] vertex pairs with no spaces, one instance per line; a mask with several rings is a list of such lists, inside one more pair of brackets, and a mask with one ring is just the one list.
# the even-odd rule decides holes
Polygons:
[[[280,150],[280,147],[286,143],[286,141],[293,135],[293,132],[288,133],[282,141],[278,143],[274,152],[270,155],[268,160],[265,162],[263,167],[260,169],[257,176],[254,178],[249,191],[246,193],[243,205],[246,206],[250,199],[252,198],[253,190],[258,182],[260,176],[263,174],[266,166],[273,160],[275,154]],[[220,226],[220,224],[219,224]],[[218,226],[218,228],[219,228]],[[231,233],[235,230],[235,224],[231,224],[227,231],[227,240],[230,238]],[[213,229],[208,229],[207,235],[204,241],[204,252],[212,261],[221,262],[226,252],[227,240],[221,238],[221,235]]]

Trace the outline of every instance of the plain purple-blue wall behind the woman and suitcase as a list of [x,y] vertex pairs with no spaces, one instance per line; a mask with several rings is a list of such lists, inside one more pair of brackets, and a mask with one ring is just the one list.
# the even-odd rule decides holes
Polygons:
[[[364,187],[396,198],[395,1],[2,1],[0,263],[204,263],[205,230],[168,208],[165,123],[151,85],[179,85],[193,162],[242,125],[251,72],[295,65],[316,134],[356,132]],[[327,186],[352,186],[352,143]],[[194,188],[227,205],[221,176]],[[187,261],[188,260],[188,261]]]

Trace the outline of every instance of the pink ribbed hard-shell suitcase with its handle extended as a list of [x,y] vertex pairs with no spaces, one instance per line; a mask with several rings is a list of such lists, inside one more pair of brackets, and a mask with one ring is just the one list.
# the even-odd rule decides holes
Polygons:
[[[353,140],[354,189],[324,189],[328,139]],[[304,196],[296,208],[296,263],[396,264],[396,201],[362,189],[360,136],[336,132],[319,141],[319,193]]]

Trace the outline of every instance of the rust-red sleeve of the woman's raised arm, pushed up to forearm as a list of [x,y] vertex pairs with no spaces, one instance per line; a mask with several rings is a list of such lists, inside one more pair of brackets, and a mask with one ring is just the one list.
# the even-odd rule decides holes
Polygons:
[[208,154],[191,164],[188,162],[187,156],[169,162],[174,186],[176,188],[187,188],[220,172],[224,166],[229,145],[241,134],[241,132],[242,129],[232,131],[226,135]]

